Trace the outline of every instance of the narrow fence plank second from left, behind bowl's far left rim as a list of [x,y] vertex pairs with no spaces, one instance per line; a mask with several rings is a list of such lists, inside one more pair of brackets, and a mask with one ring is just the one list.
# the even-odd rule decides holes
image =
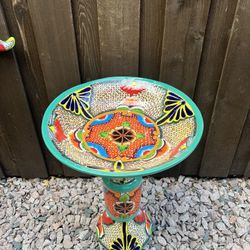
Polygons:
[[3,9],[8,13],[6,21],[9,30],[16,38],[15,54],[49,174],[62,175],[61,164],[48,152],[42,141],[42,116],[49,103],[27,0],[6,0]]

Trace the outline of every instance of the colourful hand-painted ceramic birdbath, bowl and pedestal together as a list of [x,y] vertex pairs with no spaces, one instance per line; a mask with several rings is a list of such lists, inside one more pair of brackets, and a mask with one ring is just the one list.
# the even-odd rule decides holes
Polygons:
[[105,211],[96,231],[106,249],[143,249],[150,215],[140,208],[142,177],[174,167],[198,145],[201,113],[178,89],[137,77],[75,86],[47,108],[42,134],[66,166],[101,176]]

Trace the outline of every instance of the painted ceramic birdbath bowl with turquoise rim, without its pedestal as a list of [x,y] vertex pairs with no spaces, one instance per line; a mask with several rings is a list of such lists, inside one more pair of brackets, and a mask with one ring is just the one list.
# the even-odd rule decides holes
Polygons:
[[75,86],[47,108],[42,133],[51,153],[84,173],[154,174],[183,161],[203,132],[201,113],[158,81],[110,77]]

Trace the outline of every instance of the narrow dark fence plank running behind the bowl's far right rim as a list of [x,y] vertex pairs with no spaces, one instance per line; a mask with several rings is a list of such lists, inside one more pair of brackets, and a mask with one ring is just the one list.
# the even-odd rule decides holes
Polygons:
[[230,0],[211,2],[194,94],[194,101],[202,112],[205,127],[199,146],[183,164],[183,175],[196,176],[199,172],[236,5],[237,1]]

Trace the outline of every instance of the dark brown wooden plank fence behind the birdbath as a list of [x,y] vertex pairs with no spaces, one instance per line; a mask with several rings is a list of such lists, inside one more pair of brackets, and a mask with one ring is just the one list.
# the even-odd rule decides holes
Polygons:
[[[81,82],[161,80],[201,109],[197,150],[165,176],[250,176],[249,0],[3,0],[0,176],[79,176],[46,150],[43,112]],[[161,175],[162,176],[162,175]]]

